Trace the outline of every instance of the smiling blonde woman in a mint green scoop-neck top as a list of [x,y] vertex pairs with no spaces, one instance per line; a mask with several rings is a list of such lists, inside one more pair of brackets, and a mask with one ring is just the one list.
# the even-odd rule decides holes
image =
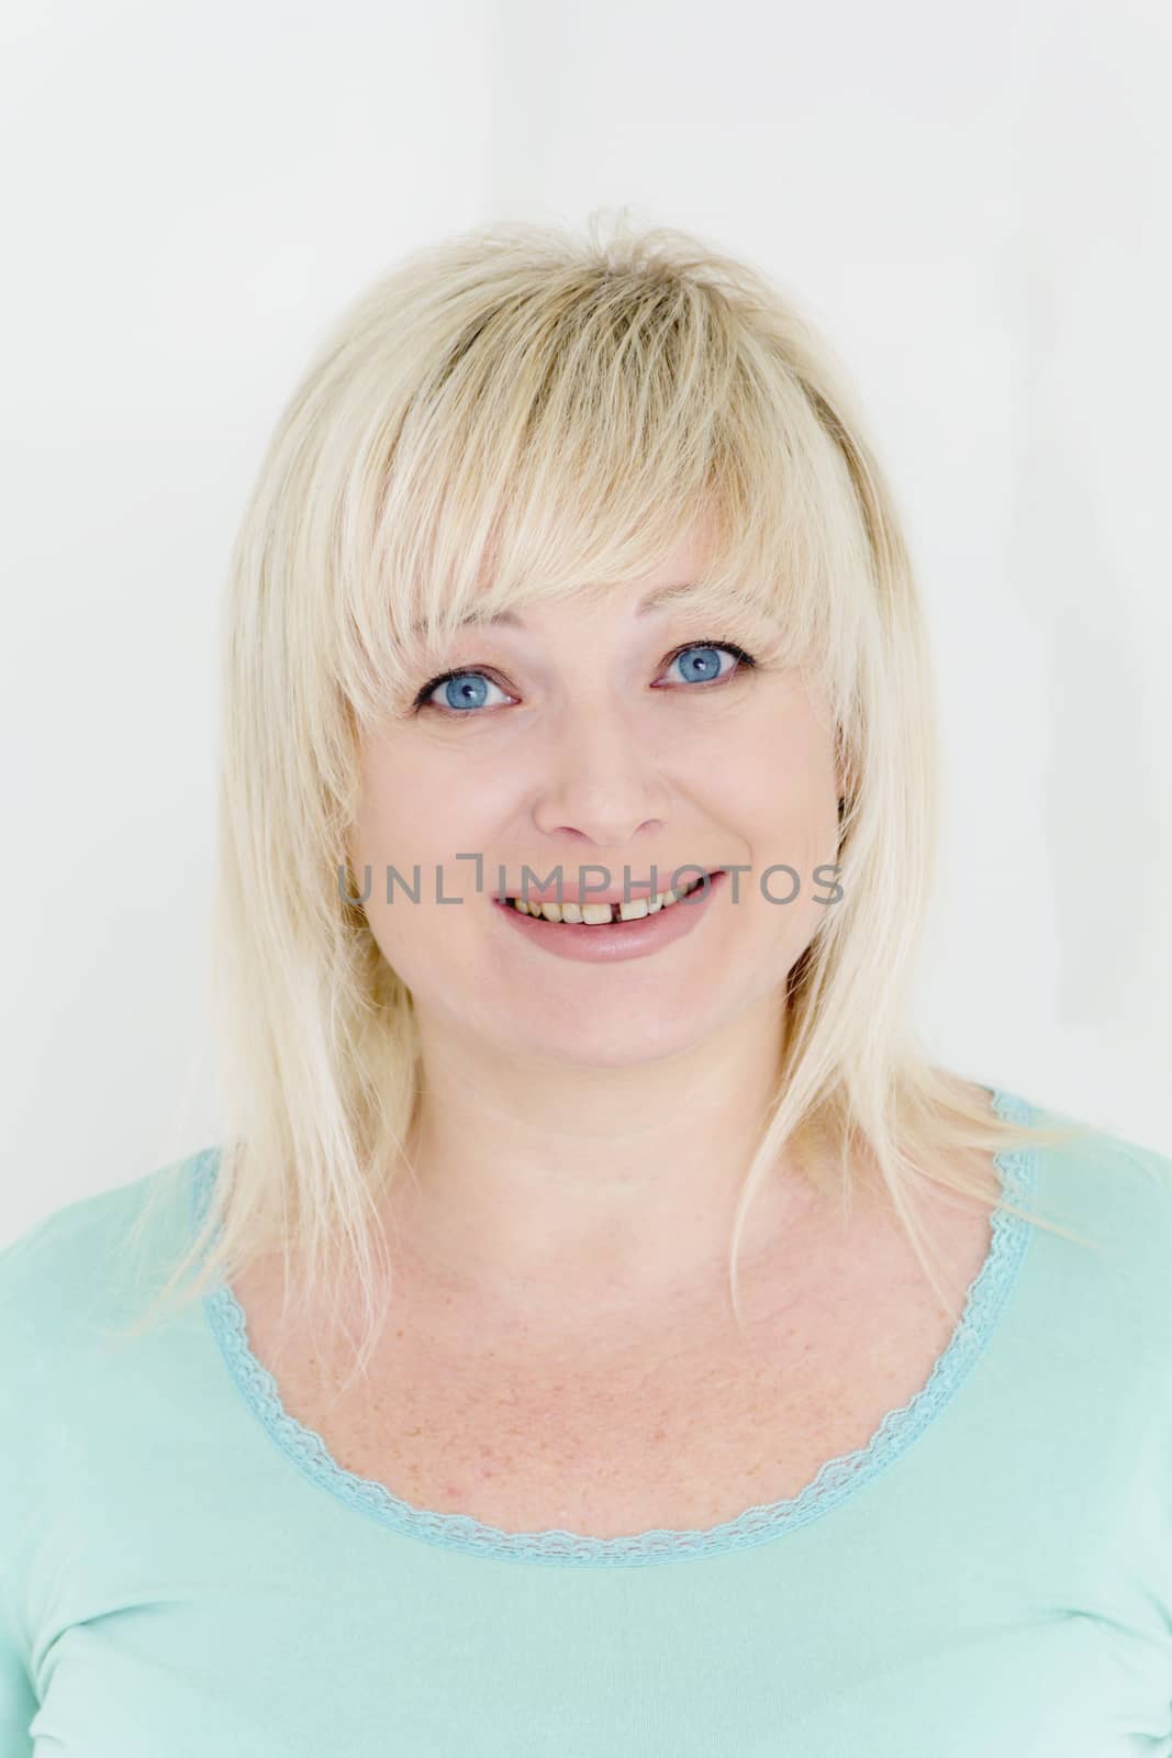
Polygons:
[[358,302],[225,619],[225,1139],[4,1253],[4,1753],[1172,1751],[1172,1162],[910,1027],[826,345],[678,232]]

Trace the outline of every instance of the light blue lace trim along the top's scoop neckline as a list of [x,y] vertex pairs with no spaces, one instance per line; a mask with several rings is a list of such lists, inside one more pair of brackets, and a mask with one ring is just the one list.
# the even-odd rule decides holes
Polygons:
[[[1035,1122],[1035,1108],[1017,1093],[998,1086],[986,1086],[986,1092],[1003,1122],[1026,1125]],[[652,1528],[619,1538],[596,1538],[557,1528],[536,1533],[506,1533],[471,1514],[439,1514],[418,1508],[402,1501],[376,1478],[358,1477],[355,1471],[344,1470],[323,1438],[285,1408],[274,1375],[250,1348],[246,1313],[227,1282],[216,1283],[200,1304],[232,1384],[286,1459],[318,1489],[404,1536],[469,1556],[562,1568],[629,1568],[722,1556],[770,1544],[842,1507],[843,1501],[852,1500],[865,1486],[887,1471],[912,1442],[940,1417],[986,1354],[1000,1313],[1021,1273],[1033,1229],[1028,1220],[1007,1213],[1005,1201],[1019,1206],[1030,1202],[1037,1187],[1037,1159],[1035,1146],[1002,1150],[993,1157],[1002,1195],[991,1211],[989,1250],[968,1285],[952,1336],[919,1392],[914,1392],[905,1405],[887,1410],[866,1445],[828,1459],[796,1496],[745,1508],[743,1514],[719,1526]],[[195,1155],[192,1211],[197,1227],[202,1224],[218,1164],[218,1146]]]

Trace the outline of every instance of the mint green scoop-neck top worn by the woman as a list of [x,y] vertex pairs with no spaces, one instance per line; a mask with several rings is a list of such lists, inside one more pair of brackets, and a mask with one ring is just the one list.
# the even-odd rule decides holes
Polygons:
[[866,1449],[724,1526],[610,1540],[341,1470],[223,1285],[105,1336],[148,1187],[176,1197],[162,1252],[214,1171],[0,1252],[0,1758],[1172,1754],[1170,1159],[1103,1132],[1002,1155],[1089,1246],[1000,1208]]

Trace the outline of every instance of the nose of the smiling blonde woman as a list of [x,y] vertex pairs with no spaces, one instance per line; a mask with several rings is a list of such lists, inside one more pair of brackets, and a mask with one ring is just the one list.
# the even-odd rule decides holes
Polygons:
[[659,752],[613,707],[566,714],[546,731],[532,810],[545,835],[622,849],[638,832],[661,830],[669,810]]

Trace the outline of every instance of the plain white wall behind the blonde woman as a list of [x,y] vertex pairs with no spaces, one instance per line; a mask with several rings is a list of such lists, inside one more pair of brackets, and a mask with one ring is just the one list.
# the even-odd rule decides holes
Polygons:
[[272,422],[416,244],[633,204],[863,392],[931,619],[921,1030],[1172,1151],[1160,0],[9,4],[0,1236],[216,1139],[216,619]]

